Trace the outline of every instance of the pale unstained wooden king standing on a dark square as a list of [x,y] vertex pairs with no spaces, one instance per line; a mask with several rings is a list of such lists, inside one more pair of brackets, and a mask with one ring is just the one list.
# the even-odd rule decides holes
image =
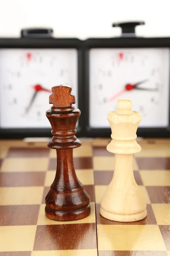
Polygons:
[[132,111],[132,102],[120,99],[117,111],[108,113],[111,143],[107,150],[115,153],[113,179],[100,202],[100,214],[113,221],[139,221],[147,216],[146,203],[133,175],[133,154],[141,151],[136,142],[140,113]]

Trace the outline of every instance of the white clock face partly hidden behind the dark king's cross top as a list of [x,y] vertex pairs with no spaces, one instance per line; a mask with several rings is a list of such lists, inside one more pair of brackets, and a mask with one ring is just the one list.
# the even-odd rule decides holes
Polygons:
[[0,127],[50,128],[51,87],[77,92],[77,49],[0,50]]

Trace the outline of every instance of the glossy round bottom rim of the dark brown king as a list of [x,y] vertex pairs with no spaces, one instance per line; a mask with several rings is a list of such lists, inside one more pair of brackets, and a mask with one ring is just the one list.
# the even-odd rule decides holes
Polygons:
[[91,206],[75,211],[56,211],[45,206],[45,215],[54,221],[76,221],[87,217],[91,213]]

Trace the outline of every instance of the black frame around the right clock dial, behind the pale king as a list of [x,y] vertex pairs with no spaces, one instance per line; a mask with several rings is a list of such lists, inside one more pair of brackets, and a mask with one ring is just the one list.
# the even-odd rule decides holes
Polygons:
[[[84,41],[84,79],[85,79],[85,131],[87,137],[110,137],[110,128],[91,128],[89,126],[89,50],[91,48],[170,48],[170,38],[91,38]],[[170,72],[169,72],[170,74]],[[169,78],[170,82],[170,78]],[[167,128],[138,128],[137,136],[150,138],[170,137],[170,96],[169,126]]]

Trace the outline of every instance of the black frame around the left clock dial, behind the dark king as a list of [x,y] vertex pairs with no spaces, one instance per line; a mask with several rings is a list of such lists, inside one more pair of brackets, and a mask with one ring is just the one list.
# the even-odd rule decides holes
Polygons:
[[[79,108],[83,108],[83,102],[81,97],[82,93],[82,81],[83,81],[83,47],[82,41],[77,38],[0,38],[0,49],[14,49],[14,48],[28,48],[28,49],[66,49],[74,48],[78,52],[78,98]],[[56,81],[57,82],[57,81]],[[74,92],[72,92],[74,93]],[[84,113],[84,112],[83,112]],[[84,127],[82,122],[84,120],[83,113],[79,118],[79,126],[77,128],[77,134],[83,136]],[[45,114],[45,113],[44,113]],[[8,115],[8,113],[6,113]],[[26,137],[51,137],[51,128],[0,128],[0,139],[23,139]]]

